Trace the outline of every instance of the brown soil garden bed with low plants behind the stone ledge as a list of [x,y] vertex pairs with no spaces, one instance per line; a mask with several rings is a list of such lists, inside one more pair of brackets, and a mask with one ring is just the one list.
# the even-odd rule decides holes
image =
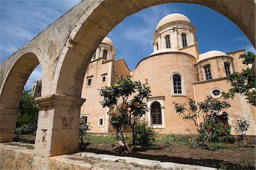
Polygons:
[[[126,136],[130,140],[130,136]],[[86,152],[95,154],[109,154],[118,156],[131,156],[142,159],[169,161],[172,163],[203,165],[221,169],[255,169],[255,136],[246,136],[245,147],[239,147],[237,143],[218,143],[220,148],[214,151],[192,148],[191,136],[174,136],[171,143],[164,141],[163,136],[156,138],[152,147],[135,147],[132,154],[123,152],[114,154],[113,147],[119,140],[115,135],[93,135],[84,136]],[[31,142],[34,136],[16,136],[16,141]]]

